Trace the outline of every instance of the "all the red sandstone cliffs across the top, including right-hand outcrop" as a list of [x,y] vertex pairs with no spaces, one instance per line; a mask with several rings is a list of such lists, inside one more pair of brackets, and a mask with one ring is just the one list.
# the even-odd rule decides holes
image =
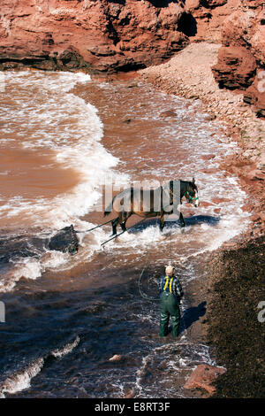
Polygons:
[[2,0],[0,69],[128,71],[220,42],[220,88],[265,113],[264,0]]

